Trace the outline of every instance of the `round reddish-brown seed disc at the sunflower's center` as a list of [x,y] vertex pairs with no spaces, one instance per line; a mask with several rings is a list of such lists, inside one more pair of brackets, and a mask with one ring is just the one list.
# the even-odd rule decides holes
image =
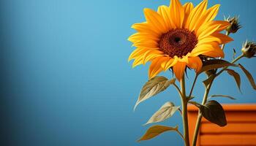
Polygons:
[[190,53],[197,45],[197,37],[194,31],[178,28],[162,34],[159,40],[159,48],[166,55],[182,57]]

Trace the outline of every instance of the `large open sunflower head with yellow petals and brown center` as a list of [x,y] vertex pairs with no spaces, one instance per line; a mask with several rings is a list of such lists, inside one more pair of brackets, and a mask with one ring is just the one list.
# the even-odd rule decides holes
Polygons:
[[230,23],[214,20],[220,5],[207,9],[207,3],[204,0],[194,7],[191,2],[182,5],[179,0],[172,0],[170,7],[159,6],[157,12],[144,9],[146,22],[133,24],[138,32],[128,39],[136,47],[128,59],[134,59],[132,67],[150,61],[149,78],[173,69],[181,80],[187,67],[200,71],[200,56],[224,58],[219,46],[233,39],[221,31]]

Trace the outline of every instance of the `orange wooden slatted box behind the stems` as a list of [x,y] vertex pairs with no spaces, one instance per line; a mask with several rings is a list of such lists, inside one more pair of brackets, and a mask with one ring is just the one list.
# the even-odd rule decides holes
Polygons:
[[[256,104],[222,104],[227,126],[219,127],[202,119],[197,146],[256,146]],[[195,130],[197,107],[189,105],[189,140]]]

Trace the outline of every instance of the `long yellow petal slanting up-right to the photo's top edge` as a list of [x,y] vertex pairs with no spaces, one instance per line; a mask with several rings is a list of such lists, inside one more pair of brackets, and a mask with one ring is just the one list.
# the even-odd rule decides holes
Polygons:
[[197,7],[192,9],[192,12],[190,12],[189,14],[189,18],[187,19],[185,28],[189,29],[189,31],[195,30],[195,26],[198,23],[198,20],[206,12],[207,3],[208,1],[204,0],[200,4],[198,4]]

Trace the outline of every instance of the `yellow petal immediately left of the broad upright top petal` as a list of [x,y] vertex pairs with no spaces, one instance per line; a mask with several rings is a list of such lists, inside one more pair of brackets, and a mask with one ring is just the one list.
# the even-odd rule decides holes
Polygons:
[[173,21],[170,18],[170,8],[169,7],[167,7],[165,5],[159,6],[157,12],[164,19],[165,25],[167,26],[168,30],[175,28]]

